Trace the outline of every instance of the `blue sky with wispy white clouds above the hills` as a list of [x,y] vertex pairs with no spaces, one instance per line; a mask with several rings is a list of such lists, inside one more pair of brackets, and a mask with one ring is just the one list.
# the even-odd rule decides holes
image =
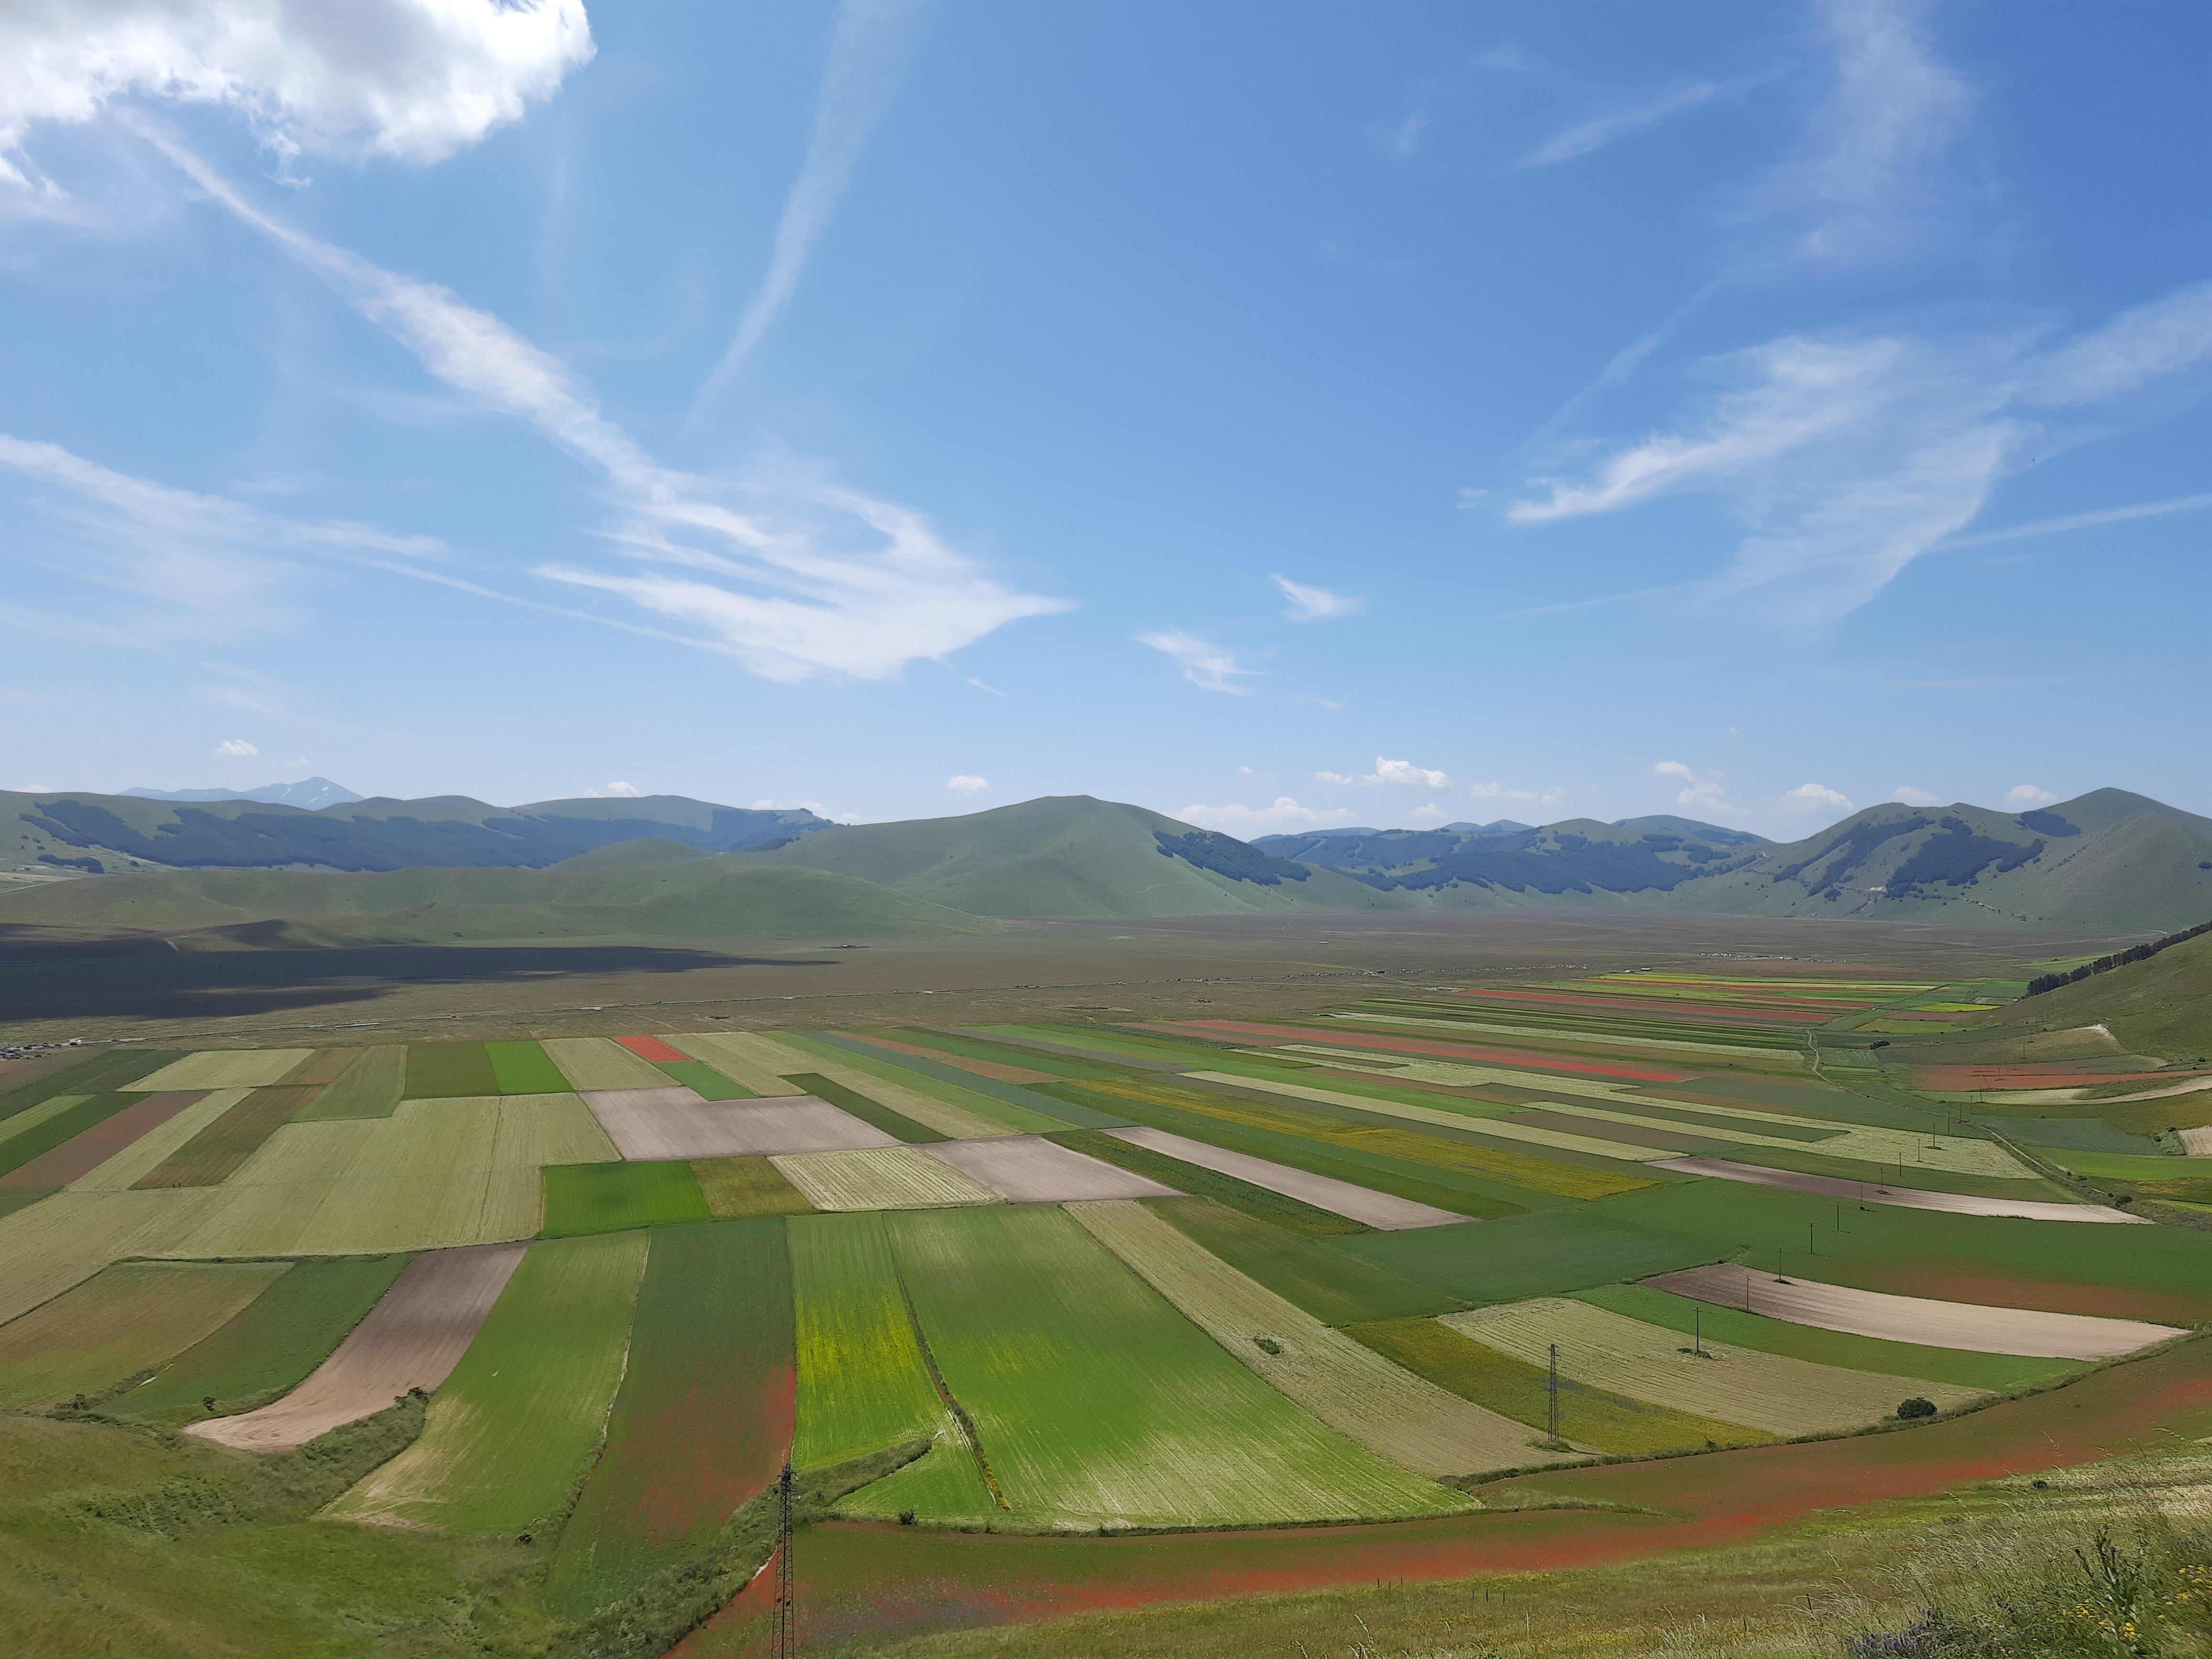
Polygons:
[[2208,46],[2197,0],[9,13],[0,785],[2212,812]]

